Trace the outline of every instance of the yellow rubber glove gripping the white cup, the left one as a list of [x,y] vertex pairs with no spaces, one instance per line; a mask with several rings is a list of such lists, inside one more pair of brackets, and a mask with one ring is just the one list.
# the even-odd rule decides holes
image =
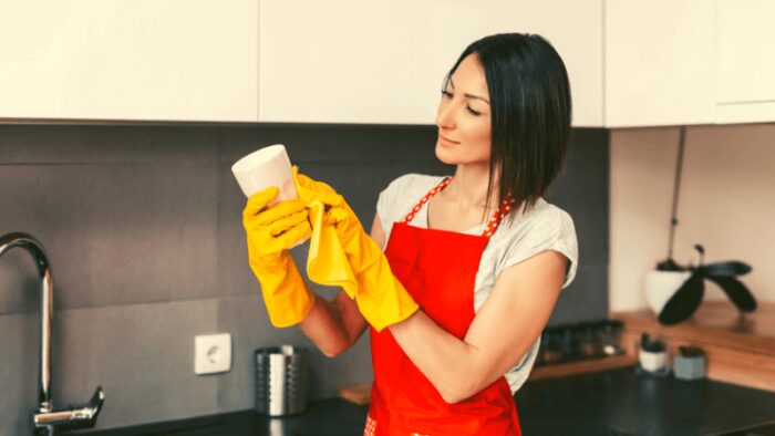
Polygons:
[[254,194],[242,211],[248,240],[250,269],[261,283],[264,303],[272,325],[299,323],[314,305],[316,295],[307,288],[288,251],[312,231],[300,199],[265,207],[277,197],[277,187]]

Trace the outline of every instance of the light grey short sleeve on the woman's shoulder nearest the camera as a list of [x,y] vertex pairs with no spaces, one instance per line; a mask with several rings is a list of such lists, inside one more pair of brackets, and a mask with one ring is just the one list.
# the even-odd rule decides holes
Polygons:
[[519,237],[515,238],[508,247],[499,270],[504,271],[506,268],[541,251],[558,251],[568,258],[565,282],[562,283],[562,289],[567,288],[576,278],[578,268],[578,242],[570,215],[552,206],[550,209],[531,217],[519,233]]

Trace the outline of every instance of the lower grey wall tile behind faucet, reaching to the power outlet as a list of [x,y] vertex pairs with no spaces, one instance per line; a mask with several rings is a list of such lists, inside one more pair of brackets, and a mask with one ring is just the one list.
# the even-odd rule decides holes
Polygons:
[[[218,330],[218,300],[58,310],[51,392],[58,407],[102,386],[99,427],[220,412],[217,376],[194,375],[194,335]],[[38,395],[38,314],[0,316],[0,435],[25,435]],[[245,408],[245,407],[242,407]]]

